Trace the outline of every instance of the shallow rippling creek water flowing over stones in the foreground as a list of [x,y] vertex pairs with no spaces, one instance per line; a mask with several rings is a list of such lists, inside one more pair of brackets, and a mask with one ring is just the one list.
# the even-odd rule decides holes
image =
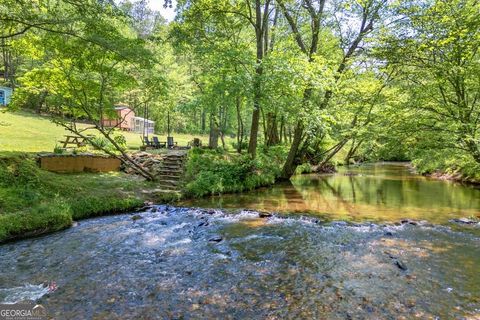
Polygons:
[[0,302],[56,319],[478,319],[477,231],[154,206],[0,246]]

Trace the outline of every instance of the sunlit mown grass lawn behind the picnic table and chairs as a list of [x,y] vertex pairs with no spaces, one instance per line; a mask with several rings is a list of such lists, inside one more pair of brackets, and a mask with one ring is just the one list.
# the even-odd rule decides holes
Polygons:
[[[0,151],[52,152],[66,134],[69,134],[68,131],[47,117],[23,111],[13,113],[0,110]],[[137,150],[142,145],[140,134],[123,131],[122,135],[129,149]],[[204,144],[208,143],[208,135],[172,135],[179,146],[186,146],[194,137],[200,138]],[[160,141],[167,140],[166,135],[157,136]],[[230,141],[227,139],[229,147]]]

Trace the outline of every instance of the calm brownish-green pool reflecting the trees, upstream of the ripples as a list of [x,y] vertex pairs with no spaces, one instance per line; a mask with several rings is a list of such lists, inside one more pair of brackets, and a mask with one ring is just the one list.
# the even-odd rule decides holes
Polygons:
[[336,174],[296,176],[291,183],[272,188],[183,204],[310,213],[326,219],[409,218],[445,223],[480,216],[480,189],[414,174],[407,163],[375,163],[340,168]]

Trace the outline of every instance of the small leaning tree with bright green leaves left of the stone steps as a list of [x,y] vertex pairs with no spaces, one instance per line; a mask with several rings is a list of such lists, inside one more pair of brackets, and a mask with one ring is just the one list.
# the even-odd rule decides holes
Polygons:
[[[147,70],[154,59],[122,15],[110,16],[110,6],[97,9],[95,16],[99,19],[95,23],[91,17],[77,20],[78,33],[74,37],[63,32],[38,31],[40,37],[32,44],[42,47],[44,52],[38,66],[19,78],[21,87],[15,94],[15,104],[22,104],[22,92],[35,92],[41,84],[42,91],[48,92],[45,102],[54,122],[153,180],[151,173],[128,155],[115,138],[114,129],[103,127],[102,119],[114,116],[114,104],[128,90],[143,89],[143,99],[150,98],[158,81],[146,78],[148,73],[139,70],[140,66]],[[80,128],[79,120],[91,126]],[[114,150],[88,135],[90,130],[101,134]]]

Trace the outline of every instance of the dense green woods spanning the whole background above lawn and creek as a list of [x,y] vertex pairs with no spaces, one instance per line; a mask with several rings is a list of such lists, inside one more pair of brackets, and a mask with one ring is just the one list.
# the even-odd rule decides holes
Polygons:
[[77,134],[90,122],[113,144],[100,119],[123,103],[211,148],[280,146],[284,179],[379,159],[475,179],[479,13],[476,0],[179,0],[168,22],[144,0],[2,0],[0,72],[13,108]]

